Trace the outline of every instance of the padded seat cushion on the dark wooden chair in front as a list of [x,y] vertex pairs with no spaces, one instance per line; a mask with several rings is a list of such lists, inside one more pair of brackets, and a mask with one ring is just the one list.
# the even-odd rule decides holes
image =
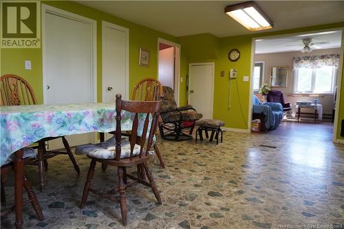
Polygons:
[[[120,158],[130,157],[130,142],[126,139],[122,139],[120,142]],[[135,144],[133,149],[133,156],[140,154],[141,147]],[[115,136],[106,140],[105,142],[100,142],[98,144],[83,144],[77,146],[75,153],[78,155],[86,154],[90,157],[96,157],[100,159],[114,159],[116,157],[116,139]]]

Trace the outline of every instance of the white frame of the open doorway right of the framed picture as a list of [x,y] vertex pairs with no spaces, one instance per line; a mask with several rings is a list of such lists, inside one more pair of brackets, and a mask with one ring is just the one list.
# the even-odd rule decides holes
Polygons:
[[174,93],[177,105],[180,104],[180,44],[165,39],[158,38],[158,79],[159,79],[159,43],[164,43],[175,47],[175,67],[174,67]]

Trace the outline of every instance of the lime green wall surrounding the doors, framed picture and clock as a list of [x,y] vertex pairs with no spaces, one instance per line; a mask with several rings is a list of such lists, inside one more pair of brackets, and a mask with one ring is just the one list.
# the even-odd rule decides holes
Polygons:
[[[133,87],[142,78],[158,76],[158,37],[180,43],[181,63],[180,76],[184,79],[180,82],[180,105],[187,104],[186,75],[189,72],[189,63],[214,62],[215,63],[215,91],[213,118],[226,122],[226,127],[247,129],[248,103],[250,98],[250,85],[243,82],[243,76],[250,76],[250,60],[252,38],[262,36],[275,36],[279,34],[292,34],[295,32],[307,32],[328,28],[343,28],[344,22],[329,25],[317,25],[308,28],[297,28],[279,32],[255,33],[246,36],[232,36],[219,39],[211,34],[197,34],[176,38],[142,25],[125,21],[105,12],[94,10],[87,6],[72,1],[42,1],[50,6],[61,8],[83,17],[97,21],[97,100],[102,100],[102,21],[109,21],[129,28],[129,94]],[[150,51],[149,67],[138,65],[139,47]],[[237,48],[241,52],[239,61],[228,61],[229,50]],[[342,54],[343,55],[343,54]],[[24,61],[32,61],[32,70],[24,69]],[[229,88],[228,72],[231,68],[237,69],[237,79],[232,80]],[[220,72],[226,72],[225,77],[220,77]],[[43,78],[42,78],[42,50],[41,49],[1,49],[1,75],[18,74],[23,76],[32,85],[39,103],[43,102]],[[344,72],[341,83],[341,104],[339,107],[339,120],[344,118]],[[231,108],[228,109],[228,93],[231,91]],[[339,96],[339,95],[338,95]],[[338,122],[338,138],[340,123]]]

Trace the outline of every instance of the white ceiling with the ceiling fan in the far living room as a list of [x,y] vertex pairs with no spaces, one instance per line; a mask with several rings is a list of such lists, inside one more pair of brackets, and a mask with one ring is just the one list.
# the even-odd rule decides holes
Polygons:
[[284,36],[272,39],[262,39],[256,41],[256,54],[273,52],[295,52],[303,48],[302,39],[312,39],[314,45],[312,49],[329,49],[341,47],[341,30],[319,32],[313,34],[301,34],[296,36]]

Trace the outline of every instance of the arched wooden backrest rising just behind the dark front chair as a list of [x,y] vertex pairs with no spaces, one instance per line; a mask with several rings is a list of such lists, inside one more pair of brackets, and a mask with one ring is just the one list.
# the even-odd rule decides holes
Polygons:
[[162,85],[154,78],[144,78],[133,89],[131,100],[157,101],[162,98]]

